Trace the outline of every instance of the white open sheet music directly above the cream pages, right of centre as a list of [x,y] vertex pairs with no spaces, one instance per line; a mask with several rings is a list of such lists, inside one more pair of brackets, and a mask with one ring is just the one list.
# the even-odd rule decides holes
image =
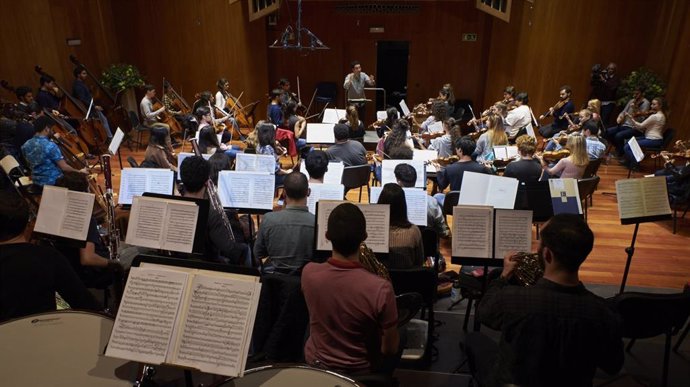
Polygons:
[[[519,181],[511,177],[465,172],[458,204],[513,209]],[[469,187],[470,189],[462,189]]]

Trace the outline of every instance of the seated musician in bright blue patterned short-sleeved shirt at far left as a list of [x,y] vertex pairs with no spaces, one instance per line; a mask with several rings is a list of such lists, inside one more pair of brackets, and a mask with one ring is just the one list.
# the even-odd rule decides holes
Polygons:
[[89,173],[86,167],[77,170],[67,164],[60,148],[49,139],[53,135],[52,125],[50,118],[38,117],[34,121],[34,137],[22,145],[22,154],[31,169],[31,180],[41,188],[54,185],[63,172]]

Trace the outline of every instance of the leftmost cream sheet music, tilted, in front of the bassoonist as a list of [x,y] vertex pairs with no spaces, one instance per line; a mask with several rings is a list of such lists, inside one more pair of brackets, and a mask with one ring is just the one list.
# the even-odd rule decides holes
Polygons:
[[45,186],[34,231],[85,241],[95,195]]

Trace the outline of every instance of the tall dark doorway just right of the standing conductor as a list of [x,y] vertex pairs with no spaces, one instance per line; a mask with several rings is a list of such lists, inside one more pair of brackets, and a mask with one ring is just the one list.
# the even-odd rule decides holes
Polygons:
[[376,98],[376,110],[398,106],[407,96],[407,59],[410,42],[380,41],[376,44],[376,87],[386,90],[387,106],[382,92]]

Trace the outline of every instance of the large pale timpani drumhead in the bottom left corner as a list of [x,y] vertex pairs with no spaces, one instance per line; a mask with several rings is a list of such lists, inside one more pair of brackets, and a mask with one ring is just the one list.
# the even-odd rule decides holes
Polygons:
[[61,311],[0,324],[5,386],[132,386],[138,366],[103,356],[113,319]]

